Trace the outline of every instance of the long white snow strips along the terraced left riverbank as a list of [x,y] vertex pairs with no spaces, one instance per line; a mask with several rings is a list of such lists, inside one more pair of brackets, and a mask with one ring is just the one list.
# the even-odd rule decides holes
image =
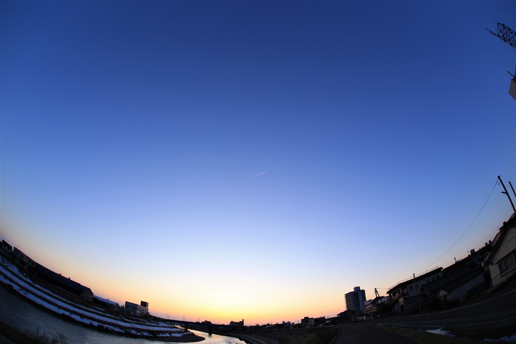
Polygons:
[[[148,332],[143,331],[159,331],[166,332],[159,336],[183,336],[185,334],[192,334],[191,332],[184,332],[177,327],[174,327],[165,322],[146,323],[115,319],[112,316],[103,314],[98,310],[91,308],[84,308],[74,304],[71,301],[63,299],[49,290],[33,284],[27,277],[25,277],[17,267],[9,263],[5,258],[0,259],[0,282],[10,285],[14,291],[20,293],[23,297],[51,310],[54,313],[69,316],[70,318],[88,325],[96,327],[103,327],[111,331],[125,333],[130,332],[134,335],[151,336]],[[142,319],[143,320],[143,319]],[[176,333],[174,333],[176,332]]]

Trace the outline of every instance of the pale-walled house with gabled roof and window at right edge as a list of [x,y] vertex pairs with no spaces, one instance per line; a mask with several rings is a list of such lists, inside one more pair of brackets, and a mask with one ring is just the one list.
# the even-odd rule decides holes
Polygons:
[[493,240],[493,249],[486,259],[491,274],[491,289],[496,289],[516,271],[516,218],[504,222]]

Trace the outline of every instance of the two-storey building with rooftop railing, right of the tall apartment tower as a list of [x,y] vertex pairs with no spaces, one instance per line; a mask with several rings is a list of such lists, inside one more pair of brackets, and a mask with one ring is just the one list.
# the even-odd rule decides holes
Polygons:
[[421,287],[441,277],[443,268],[435,267],[421,274],[409,277],[398,282],[387,291],[390,298],[390,306],[394,313],[418,312],[421,307]]

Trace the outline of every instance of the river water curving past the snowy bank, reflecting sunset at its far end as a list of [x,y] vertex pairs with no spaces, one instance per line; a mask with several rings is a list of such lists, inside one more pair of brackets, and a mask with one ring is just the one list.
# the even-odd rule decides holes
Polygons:
[[[69,344],[156,344],[161,342],[98,332],[65,321],[13,295],[3,286],[0,286],[0,319],[21,332],[36,333],[39,330],[40,334],[45,333],[49,338],[54,338],[62,333],[66,336]],[[202,344],[245,344],[244,341],[233,337],[208,335],[198,331],[191,332],[205,338],[199,342]]]

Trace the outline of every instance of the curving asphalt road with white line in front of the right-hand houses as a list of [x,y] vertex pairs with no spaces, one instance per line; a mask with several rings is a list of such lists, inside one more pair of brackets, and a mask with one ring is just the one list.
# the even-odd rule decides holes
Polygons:
[[513,284],[508,287],[475,303],[444,312],[391,317],[375,322],[410,329],[443,329],[474,339],[510,336],[516,333],[516,287]]

